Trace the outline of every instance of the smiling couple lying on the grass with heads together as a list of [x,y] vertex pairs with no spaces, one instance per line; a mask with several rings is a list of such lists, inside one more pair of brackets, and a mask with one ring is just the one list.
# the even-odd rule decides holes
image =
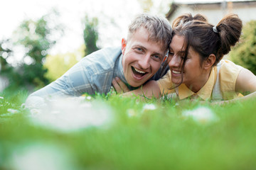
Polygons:
[[[124,96],[167,95],[221,103],[255,98],[255,75],[222,60],[240,38],[242,21],[237,15],[225,16],[213,26],[200,14],[186,14],[176,18],[172,28],[165,18],[138,16],[127,40],[122,40],[121,52],[100,50],[84,57],[63,77],[28,96],[26,105],[36,106],[49,96],[107,94],[111,86],[127,92]],[[242,96],[243,92],[249,94]]]

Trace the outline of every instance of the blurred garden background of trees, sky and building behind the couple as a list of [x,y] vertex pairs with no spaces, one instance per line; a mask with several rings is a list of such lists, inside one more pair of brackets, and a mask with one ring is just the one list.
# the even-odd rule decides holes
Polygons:
[[91,52],[121,45],[132,18],[142,12],[170,23],[183,13],[202,13],[213,24],[238,14],[242,38],[227,57],[256,74],[256,1],[9,0],[0,10],[0,92],[30,93]]

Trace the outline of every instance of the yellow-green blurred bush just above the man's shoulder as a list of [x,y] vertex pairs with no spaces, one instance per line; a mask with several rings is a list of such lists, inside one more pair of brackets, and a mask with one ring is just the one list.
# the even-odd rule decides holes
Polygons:
[[75,52],[68,52],[58,55],[47,55],[43,66],[48,69],[46,78],[55,81],[75,65],[84,55],[84,45]]

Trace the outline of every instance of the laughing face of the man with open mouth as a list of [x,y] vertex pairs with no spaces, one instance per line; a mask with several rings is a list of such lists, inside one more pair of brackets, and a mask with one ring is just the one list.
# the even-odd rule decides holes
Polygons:
[[127,42],[123,39],[122,66],[127,83],[137,87],[150,79],[161,66],[163,49],[161,42],[149,40],[149,33],[144,27],[137,29]]

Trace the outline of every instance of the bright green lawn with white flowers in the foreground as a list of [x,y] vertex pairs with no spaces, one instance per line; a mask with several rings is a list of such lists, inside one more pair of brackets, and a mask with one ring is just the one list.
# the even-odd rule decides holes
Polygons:
[[0,96],[0,169],[256,169],[255,100],[87,96],[30,112],[26,92]]

